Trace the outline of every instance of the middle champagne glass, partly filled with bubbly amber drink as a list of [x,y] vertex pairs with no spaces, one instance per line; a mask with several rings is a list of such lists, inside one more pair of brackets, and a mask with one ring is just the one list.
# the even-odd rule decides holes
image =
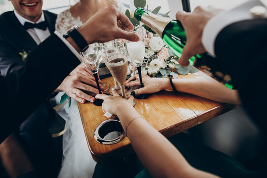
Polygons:
[[128,58],[123,42],[110,41],[103,45],[103,60],[114,78],[115,89],[120,89],[123,98],[127,99],[124,83],[128,71]]

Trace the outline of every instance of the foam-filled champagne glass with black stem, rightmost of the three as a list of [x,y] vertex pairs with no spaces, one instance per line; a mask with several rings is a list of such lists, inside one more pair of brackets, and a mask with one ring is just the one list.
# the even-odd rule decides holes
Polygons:
[[[134,27],[135,31],[134,33],[139,36],[139,41],[138,42],[128,42],[127,43],[127,50],[130,55],[131,61],[134,63],[134,65],[137,68],[138,75],[139,75],[139,80],[140,80],[140,87],[144,87],[143,82],[142,82],[142,73],[141,73],[141,66],[143,64],[144,56],[145,56],[145,46],[144,46],[144,38],[143,38],[143,33],[145,32],[145,29],[141,26],[136,26]],[[151,94],[139,94],[135,95],[133,93],[134,97],[137,99],[146,99],[151,96]]]

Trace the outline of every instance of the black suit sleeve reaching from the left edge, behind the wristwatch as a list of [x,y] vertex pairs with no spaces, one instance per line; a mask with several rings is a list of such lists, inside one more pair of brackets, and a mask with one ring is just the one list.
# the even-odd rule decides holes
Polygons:
[[79,59],[53,34],[28,55],[24,68],[0,76],[0,142],[79,64]]

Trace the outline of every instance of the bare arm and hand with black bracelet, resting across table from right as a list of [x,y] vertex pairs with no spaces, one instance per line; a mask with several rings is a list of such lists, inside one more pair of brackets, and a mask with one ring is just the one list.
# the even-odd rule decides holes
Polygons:
[[[139,79],[133,82],[129,79],[126,87],[140,85]],[[135,94],[154,93],[162,89],[171,89],[169,79],[142,77],[144,88],[135,89]],[[241,104],[237,90],[228,89],[211,77],[199,77],[195,79],[173,79],[175,88],[180,92],[186,92],[207,99],[229,104]]]

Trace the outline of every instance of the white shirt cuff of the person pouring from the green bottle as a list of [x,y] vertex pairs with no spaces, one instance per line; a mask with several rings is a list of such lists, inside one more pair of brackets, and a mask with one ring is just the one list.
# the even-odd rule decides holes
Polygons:
[[207,52],[216,56],[214,45],[215,40],[224,27],[242,20],[252,19],[250,8],[262,5],[259,0],[249,0],[231,10],[224,11],[211,18],[203,29],[202,44]]

